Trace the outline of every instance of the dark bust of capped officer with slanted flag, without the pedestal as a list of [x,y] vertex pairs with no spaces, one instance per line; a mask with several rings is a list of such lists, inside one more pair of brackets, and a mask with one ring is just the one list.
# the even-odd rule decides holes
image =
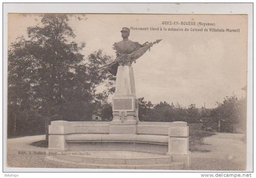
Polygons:
[[138,42],[133,42],[128,39],[130,35],[130,29],[127,27],[122,28],[122,41],[114,43],[113,49],[116,50],[116,59],[101,68],[106,68],[109,72],[116,76],[117,68],[119,65],[132,65],[132,62],[136,63],[136,59],[140,58],[153,44],[159,43],[161,40],[157,40],[153,43],[145,42],[141,45]]

